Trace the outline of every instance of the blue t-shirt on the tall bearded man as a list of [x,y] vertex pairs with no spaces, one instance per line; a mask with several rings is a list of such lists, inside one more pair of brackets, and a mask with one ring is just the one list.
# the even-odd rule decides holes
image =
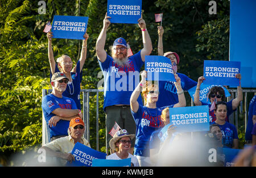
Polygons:
[[[104,63],[101,63],[100,60],[98,63],[104,74],[104,111],[107,106],[130,105],[131,94],[139,84],[139,71],[144,64],[141,59],[141,51],[130,56],[124,67],[115,63],[108,54]],[[141,96],[137,101],[142,105]]]

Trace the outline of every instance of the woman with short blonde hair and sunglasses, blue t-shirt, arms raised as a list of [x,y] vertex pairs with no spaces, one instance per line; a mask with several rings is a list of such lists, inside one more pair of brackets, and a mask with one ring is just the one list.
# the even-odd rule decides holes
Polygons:
[[[164,126],[161,119],[162,110],[165,107],[184,107],[186,105],[183,89],[181,88],[180,78],[175,74],[175,86],[179,96],[179,102],[175,105],[156,107],[158,101],[158,85],[153,84],[152,81],[146,81],[147,72],[142,72],[142,80],[131,94],[130,105],[131,113],[135,123],[136,140],[134,147],[134,155],[137,157],[141,166],[151,166],[149,141],[151,134]],[[138,104],[139,95],[143,94],[146,104],[144,106]]]

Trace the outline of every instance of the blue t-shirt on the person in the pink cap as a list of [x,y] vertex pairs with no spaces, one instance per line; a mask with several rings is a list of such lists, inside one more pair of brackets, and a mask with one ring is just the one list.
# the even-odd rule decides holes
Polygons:
[[[186,76],[183,73],[177,73],[180,77],[181,88],[183,90],[189,90],[193,86],[197,85],[196,81]],[[168,105],[175,105],[179,102],[177,96],[177,89],[173,81],[159,81],[159,98],[156,102],[156,107],[163,107]]]

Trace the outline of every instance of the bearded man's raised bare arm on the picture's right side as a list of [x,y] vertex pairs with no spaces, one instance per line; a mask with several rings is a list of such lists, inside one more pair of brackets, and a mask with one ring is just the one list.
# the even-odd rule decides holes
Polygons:
[[141,50],[141,59],[144,62],[145,56],[150,55],[152,51],[152,43],[150,39],[150,35],[148,34],[147,28],[146,28],[146,22],[144,19],[141,18],[138,19],[138,26],[141,28],[142,31],[142,41],[143,41],[143,49]]

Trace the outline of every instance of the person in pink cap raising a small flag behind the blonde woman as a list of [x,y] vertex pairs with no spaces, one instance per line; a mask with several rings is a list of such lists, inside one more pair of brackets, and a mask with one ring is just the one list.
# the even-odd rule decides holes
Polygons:
[[[163,33],[164,28],[162,26],[158,26],[158,56],[165,56],[171,60],[172,69],[180,78],[181,88],[183,90],[189,90],[193,86],[196,86],[197,83],[185,74],[177,73],[177,65],[180,63],[180,58],[176,52],[168,51],[163,53]],[[159,100],[156,102],[157,107],[174,105],[179,101],[175,84],[172,81],[159,81],[159,92]]]

